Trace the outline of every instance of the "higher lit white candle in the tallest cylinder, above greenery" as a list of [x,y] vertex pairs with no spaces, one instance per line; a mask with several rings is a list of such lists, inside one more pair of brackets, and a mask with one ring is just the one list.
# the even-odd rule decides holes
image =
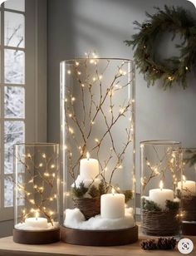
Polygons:
[[99,162],[96,159],[90,158],[89,153],[86,158],[80,161],[80,175],[82,180],[94,180],[99,175]]

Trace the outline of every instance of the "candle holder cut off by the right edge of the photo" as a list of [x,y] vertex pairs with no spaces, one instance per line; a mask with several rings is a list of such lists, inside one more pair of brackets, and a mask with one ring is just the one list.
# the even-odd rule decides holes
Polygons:
[[196,148],[183,149],[183,179],[178,189],[182,201],[183,234],[196,235]]

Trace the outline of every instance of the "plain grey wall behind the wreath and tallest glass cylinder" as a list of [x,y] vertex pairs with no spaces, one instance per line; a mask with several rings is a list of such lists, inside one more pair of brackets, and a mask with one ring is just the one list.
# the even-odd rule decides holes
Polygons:
[[[48,12],[48,140],[60,140],[59,62],[83,57],[96,50],[100,57],[132,58],[123,41],[135,33],[133,22],[143,22],[145,11],[154,6],[179,5],[196,16],[191,2],[184,0],[49,0]],[[174,46],[164,41],[159,51],[169,56]],[[163,55],[162,55],[163,56]],[[163,91],[159,84],[147,88],[142,75],[136,74],[136,168],[139,170],[140,140],[181,140],[196,146],[195,76],[189,88],[179,86]],[[138,171],[139,173],[139,171]]]

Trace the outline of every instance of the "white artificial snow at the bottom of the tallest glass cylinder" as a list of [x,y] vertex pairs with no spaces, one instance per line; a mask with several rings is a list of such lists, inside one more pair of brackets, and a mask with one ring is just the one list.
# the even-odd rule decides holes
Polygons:
[[121,219],[104,219],[100,215],[96,215],[86,220],[80,209],[66,209],[66,219],[64,225],[71,229],[87,229],[87,230],[113,230],[128,229],[135,226],[133,217],[133,209],[125,208],[125,218]]

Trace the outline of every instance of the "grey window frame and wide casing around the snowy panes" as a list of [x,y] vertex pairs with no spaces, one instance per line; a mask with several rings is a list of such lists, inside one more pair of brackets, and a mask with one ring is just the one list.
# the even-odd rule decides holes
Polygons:
[[[4,66],[1,65],[1,148],[4,151],[4,121],[25,122],[25,142],[47,141],[47,0],[25,0],[25,12],[1,7],[1,63],[4,63],[4,11],[22,13],[25,17],[25,47],[17,50],[25,52],[25,83],[6,84],[4,81]],[[2,44],[3,42],[3,44]],[[3,71],[3,72],[2,72]],[[22,86],[25,88],[24,119],[4,118],[4,86]],[[2,116],[3,115],[3,116]],[[4,155],[1,150],[0,174],[0,221],[13,219],[13,207],[4,207]],[[10,176],[10,175],[8,175]]]

